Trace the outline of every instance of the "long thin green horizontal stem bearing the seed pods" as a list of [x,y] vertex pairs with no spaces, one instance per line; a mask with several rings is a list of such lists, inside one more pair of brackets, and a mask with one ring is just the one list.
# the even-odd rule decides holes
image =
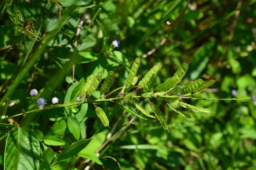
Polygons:
[[[177,98],[177,99],[192,99],[192,100],[220,100],[220,101],[256,101],[256,99],[236,99],[236,98],[231,98],[231,99],[218,99],[218,98],[194,98],[191,96],[177,96],[177,95],[138,95],[138,96],[133,96],[133,98]],[[33,113],[33,112],[38,112],[38,111],[43,111],[43,110],[49,110],[49,109],[55,109],[55,108],[61,108],[61,107],[66,107],[66,106],[76,106],[84,103],[96,103],[96,102],[115,102],[117,100],[123,99],[123,97],[116,97],[116,98],[110,98],[110,99],[96,99],[96,100],[85,100],[84,102],[74,102],[74,103],[63,103],[63,104],[56,104],[52,106],[45,107],[44,109],[35,109],[35,110],[30,110],[26,111],[23,113],[19,113],[13,116],[10,116],[9,118],[21,116],[24,114],[28,113]]]

